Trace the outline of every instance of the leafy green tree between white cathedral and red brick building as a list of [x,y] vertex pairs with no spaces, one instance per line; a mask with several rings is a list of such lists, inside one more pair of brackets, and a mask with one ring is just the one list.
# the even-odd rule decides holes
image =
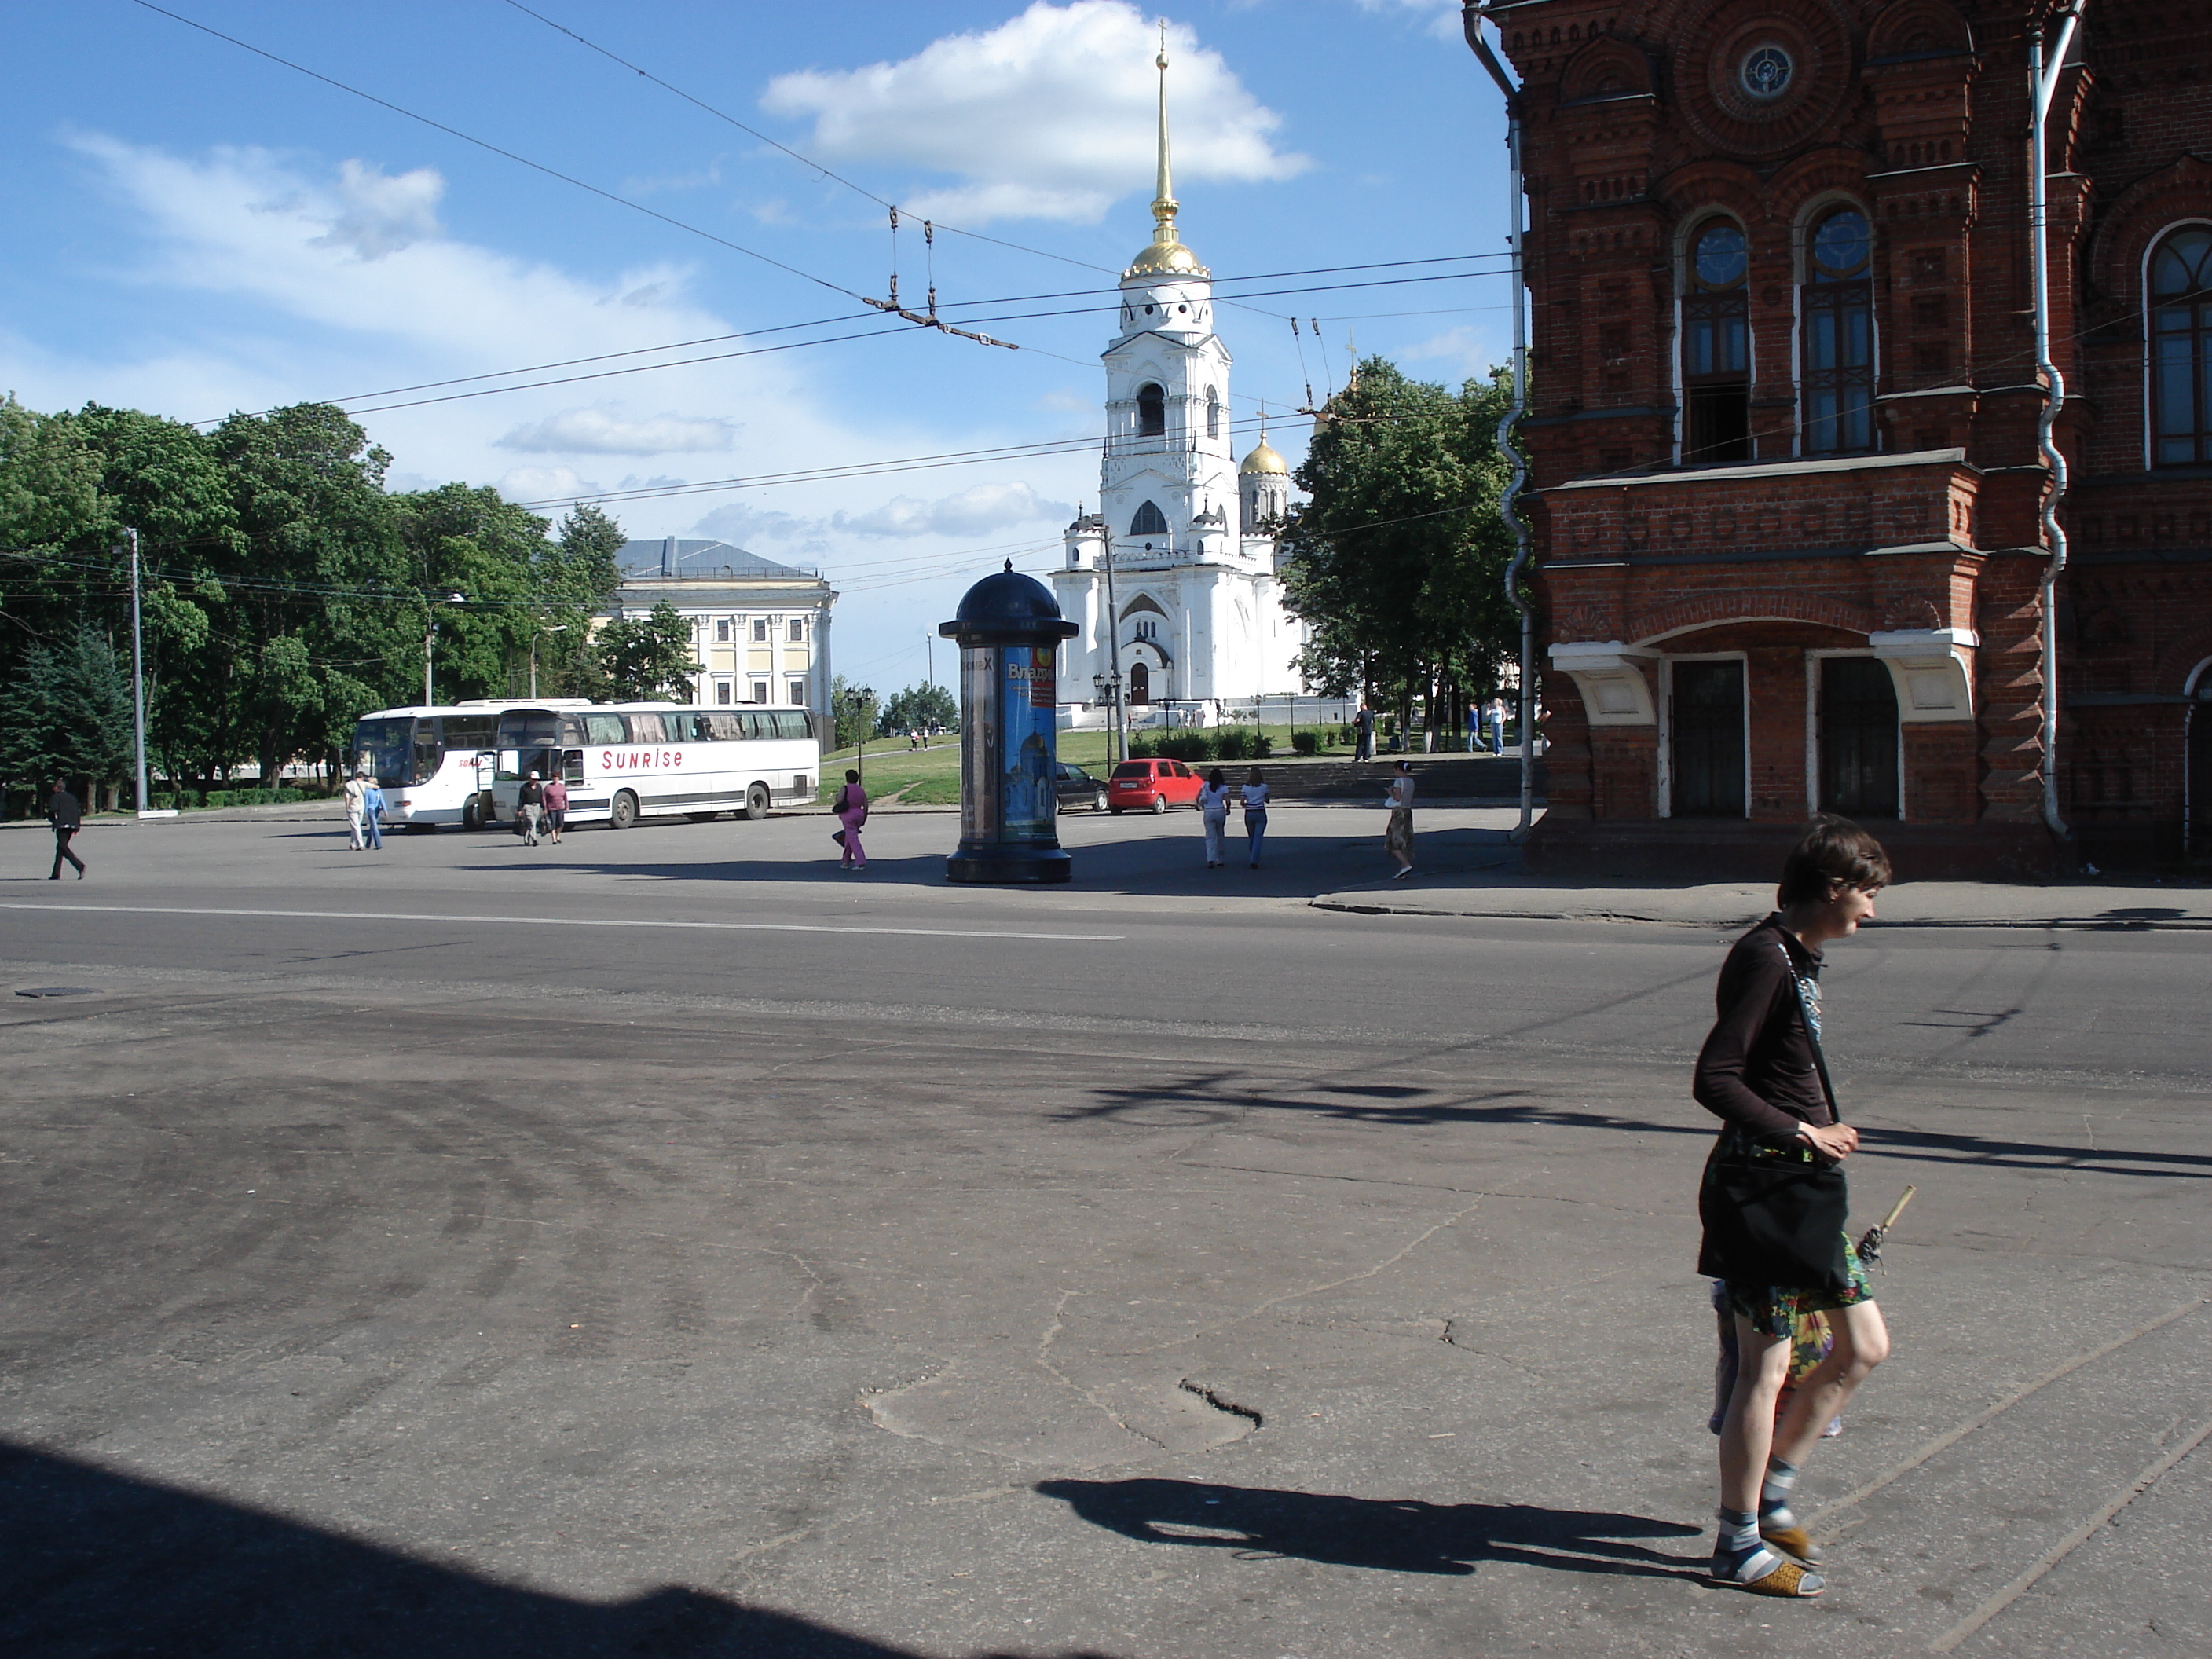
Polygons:
[[1298,467],[1312,500],[1283,535],[1285,604],[1310,628],[1301,666],[1325,695],[1380,695],[1407,717],[1416,699],[1495,684],[1517,650],[1498,518],[1506,405],[1502,372],[1453,394],[1387,358],[1329,400]]

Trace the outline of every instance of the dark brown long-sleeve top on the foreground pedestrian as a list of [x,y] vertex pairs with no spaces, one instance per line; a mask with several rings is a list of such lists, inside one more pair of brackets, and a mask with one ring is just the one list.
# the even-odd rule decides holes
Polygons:
[[1792,971],[1809,982],[1818,1009],[1820,953],[1801,945],[1781,916],[1739,938],[1721,962],[1712,1035],[1697,1055],[1699,1106],[1763,1141],[1794,1139],[1801,1124],[1836,1121],[1820,1093]]

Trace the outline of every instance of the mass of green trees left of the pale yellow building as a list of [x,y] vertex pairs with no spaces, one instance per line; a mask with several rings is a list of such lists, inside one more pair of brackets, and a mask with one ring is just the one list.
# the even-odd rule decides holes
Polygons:
[[[64,728],[104,717],[35,714],[33,686],[106,697],[115,668],[128,710],[124,526],[142,544],[148,752],[170,779],[250,759],[274,776],[336,754],[363,712],[420,697],[431,622],[440,699],[522,692],[533,641],[546,695],[613,695],[593,617],[615,593],[622,526],[586,507],[553,535],[465,484],[394,495],[387,460],[330,405],[204,434],[137,409],[46,416],[0,398],[0,781],[64,759],[97,774],[100,743]],[[106,655],[86,655],[84,637]],[[653,670],[659,644],[630,639],[626,670]]]

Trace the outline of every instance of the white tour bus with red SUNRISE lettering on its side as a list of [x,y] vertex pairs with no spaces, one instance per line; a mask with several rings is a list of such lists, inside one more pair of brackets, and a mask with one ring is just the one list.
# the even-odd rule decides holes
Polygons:
[[679,703],[535,703],[500,714],[495,823],[515,823],[522,779],[555,768],[568,781],[568,823],[681,812],[765,818],[814,799],[823,752],[803,708],[684,708]]

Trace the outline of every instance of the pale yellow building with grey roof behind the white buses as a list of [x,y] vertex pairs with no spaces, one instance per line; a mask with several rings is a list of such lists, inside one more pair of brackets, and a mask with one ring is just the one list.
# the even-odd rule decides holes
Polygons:
[[699,703],[830,708],[830,606],[821,571],[774,564],[728,542],[624,542],[615,617],[664,599],[692,626]]

